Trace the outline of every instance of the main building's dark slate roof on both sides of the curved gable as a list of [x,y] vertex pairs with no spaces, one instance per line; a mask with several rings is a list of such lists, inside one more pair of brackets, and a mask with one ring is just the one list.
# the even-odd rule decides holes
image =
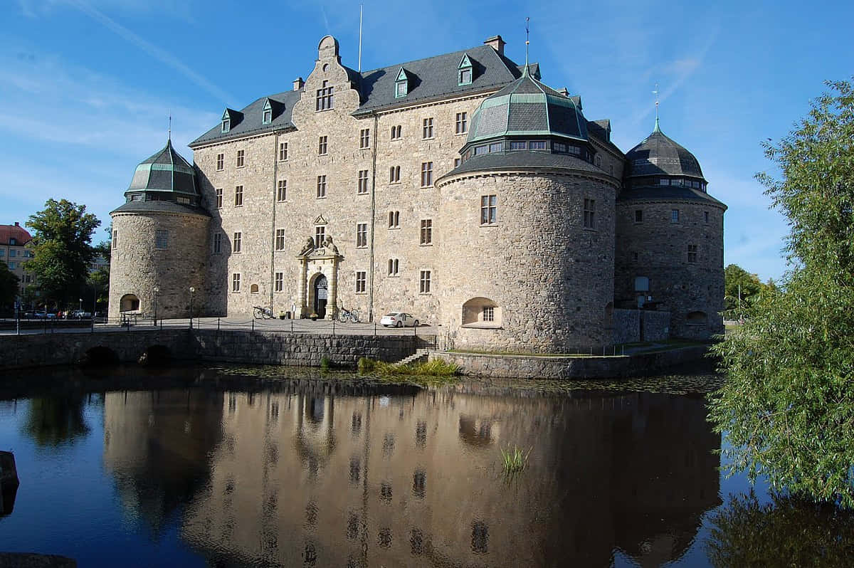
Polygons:
[[[466,54],[471,60],[471,85],[458,85],[457,71],[459,61]],[[406,97],[395,97],[395,79],[403,67],[409,76],[409,92]],[[441,56],[396,63],[359,73],[344,67],[348,79],[360,93],[361,105],[354,115],[370,114],[371,112],[395,108],[412,102],[425,102],[449,95],[465,92],[488,91],[506,85],[521,76],[521,67],[488,45],[479,45],[469,50],[459,50]],[[540,66],[536,63],[529,65],[533,77],[540,76]],[[294,104],[300,100],[302,91],[284,91],[269,97],[260,97],[241,111],[232,111],[231,129],[222,132],[221,123],[205,132],[189,145],[190,148],[203,143],[242,138],[261,132],[287,130],[295,128],[291,121]],[[262,110],[266,99],[278,102],[278,108],[273,106],[273,118],[270,124],[262,124]],[[277,114],[278,110],[278,114]]]

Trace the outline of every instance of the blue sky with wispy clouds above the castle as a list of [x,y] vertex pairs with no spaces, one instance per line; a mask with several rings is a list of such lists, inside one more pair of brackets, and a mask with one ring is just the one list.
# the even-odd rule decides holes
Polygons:
[[[109,224],[139,161],[192,139],[226,105],[290,89],[319,39],[357,66],[359,2],[7,0],[0,36],[0,223],[50,197]],[[854,73],[854,3],[380,3],[366,0],[362,68],[479,45],[496,33],[555,88],[610,118],[628,151],[652,131],[655,84],[664,133],[697,155],[709,192],[729,206],[725,263],[779,278],[786,221],[753,175],[825,79]],[[773,170],[771,170],[773,171]],[[99,230],[96,240],[106,233]]]

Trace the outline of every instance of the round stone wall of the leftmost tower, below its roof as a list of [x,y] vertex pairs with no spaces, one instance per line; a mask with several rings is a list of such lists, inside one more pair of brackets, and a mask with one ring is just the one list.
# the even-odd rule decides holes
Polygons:
[[[132,294],[146,317],[155,307],[158,318],[189,317],[190,286],[195,315],[207,314],[208,221],[202,214],[114,214],[108,316],[118,318],[121,298]],[[168,231],[166,249],[155,249],[158,230]]]

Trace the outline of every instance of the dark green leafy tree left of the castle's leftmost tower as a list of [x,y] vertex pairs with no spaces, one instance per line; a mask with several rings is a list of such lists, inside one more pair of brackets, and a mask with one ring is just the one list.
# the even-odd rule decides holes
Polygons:
[[92,260],[92,232],[101,221],[85,205],[49,199],[44,210],[30,215],[34,258],[26,263],[45,300],[67,303],[85,284]]

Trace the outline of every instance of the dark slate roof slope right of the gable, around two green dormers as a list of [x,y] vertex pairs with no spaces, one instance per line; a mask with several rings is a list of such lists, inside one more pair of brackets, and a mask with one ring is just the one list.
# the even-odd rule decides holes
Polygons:
[[[459,61],[471,61],[471,85],[458,85]],[[403,67],[409,77],[406,97],[395,97],[395,79]],[[454,51],[362,73],[359,88],[362,105],[354,114],[365,114],[381,108],[393,108],[416,101],[447,97],[468,91],[486,91],[506,85],[518,77],[518,66],[488,45]]]

